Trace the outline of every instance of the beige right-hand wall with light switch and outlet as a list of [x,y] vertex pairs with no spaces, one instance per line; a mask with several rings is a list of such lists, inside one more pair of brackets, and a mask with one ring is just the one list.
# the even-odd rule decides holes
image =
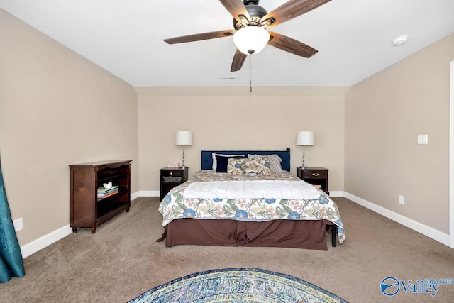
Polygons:
[[[345,97],[345,192],[443,233],[451,60],[454,34],[355,84]],[[428,145],[416,144],[418,134],[428,134]]]

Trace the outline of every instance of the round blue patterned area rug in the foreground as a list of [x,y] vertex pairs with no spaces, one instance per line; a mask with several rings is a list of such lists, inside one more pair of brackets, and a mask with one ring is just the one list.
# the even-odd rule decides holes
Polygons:
[[257,268],[197,272],[148,290],[129,303],[144,302],[346,302],[309,282]]

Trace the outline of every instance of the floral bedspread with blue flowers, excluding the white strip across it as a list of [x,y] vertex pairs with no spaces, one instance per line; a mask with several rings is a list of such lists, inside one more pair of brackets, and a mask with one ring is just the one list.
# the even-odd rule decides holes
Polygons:
[[159,211],[162,214],[162,226],[172,220],[182,218],[196,219],[238,219],[263,221],[274,219],[321,220],[326,219],[338,226],[338,241],[343,243],[345,232],[338,206],[333,200],[320,191],[319,199],[293,200],[258,197],[257,199],[184,199],[184,189],[192,182],[225,181],[225,180],[294,180],[298,177],[287,171],[272,175],[233,175],[214,170],[199,170],[187,182],[174,187],[162,199]]

